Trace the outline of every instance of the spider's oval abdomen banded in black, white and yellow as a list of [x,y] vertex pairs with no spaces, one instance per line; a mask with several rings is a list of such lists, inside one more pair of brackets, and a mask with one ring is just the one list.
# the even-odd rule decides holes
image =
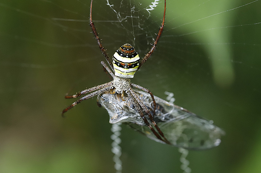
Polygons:
[[130,79],[138,69],[140,57],[130,44],[121,46],[112,57],[115,76]]

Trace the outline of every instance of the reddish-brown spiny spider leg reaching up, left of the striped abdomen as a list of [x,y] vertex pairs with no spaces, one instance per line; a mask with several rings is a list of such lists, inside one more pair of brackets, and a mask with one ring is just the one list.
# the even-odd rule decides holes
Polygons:
[[105,57],[106,61],[108,62],[108,64],[110,65],[112,71],[114,71],[114,68],[113,68],[113,65],[112,65],[112,62],[110,60],[110,57],[108,56],[107,52],[106,52],[106,49],[104,49],[104,47],[102,46],[102,42],[99,38],[99,35],[98,35],[98,32],[96,31],[96,28],[95,28],[95,25],[94,23],[92,22],[92,1],[91,1],[91,7],[90,7],[90,26],[92,28],[92,32],[95,36],[95,39],[98,43],[98,46],[103,54],[103,56]]

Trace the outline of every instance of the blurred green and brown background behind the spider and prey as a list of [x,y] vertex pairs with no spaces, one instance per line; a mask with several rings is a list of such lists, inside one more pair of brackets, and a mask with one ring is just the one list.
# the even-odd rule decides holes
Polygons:
[[[173,92],[175,104],[226,131],[220,146],[189,152],[194,173],[261,171],[261,2],[250,2],[167,1],[158,48],[132,80],[163,99]],[[105,0],[93,2],[109,56],[128,42],[142,57],[164,4],[149,16],[147,0],[109,3],[121,17],[132,16],[120,23]],[[89,0],[0,1],[1,173],[115,172],[111,124],[96,97],[61,117],[75,101],[66,93],[110,81],[88,26],[89,6]],[[121,138],[124,173],[182,172],[177,148],[124,126]]]

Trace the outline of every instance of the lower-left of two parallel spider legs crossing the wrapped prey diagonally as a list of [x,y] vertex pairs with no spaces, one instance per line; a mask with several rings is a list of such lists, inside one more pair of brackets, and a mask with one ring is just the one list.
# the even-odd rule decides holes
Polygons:
[[[130,100],[135,103],[133,104],[134,107],[137,109],[137,111],[139,112],[140,116],[142,117],[144,123],[146,124],[146,126],[148,126],[150,128],[150,130],[153,132],[153,134],[161,141],[164,141],[161,136],[155,131],[155,129],[150,125],[150,123],[148,122],[148,120],[146,119],[146,117],[144,116],[143,112],[142,112],[142,107],[138,104],[138,102],[136,101],[136,99],[133,97],[133,94],[131,94],[129,91],[132,90],[131,88],[129,90],[126,91],[128,97],[130,98]],[[164,141],[165,142],[165,141]]]

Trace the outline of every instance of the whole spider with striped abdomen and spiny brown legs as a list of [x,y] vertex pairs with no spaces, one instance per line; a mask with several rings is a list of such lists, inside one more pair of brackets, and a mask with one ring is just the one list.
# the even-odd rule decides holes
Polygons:
[[[66,95],[65,98],[78,98],[83,94],[88,94],[83,97],[81,97],[79,100],[72,103],[70,106],[65,108],[62,112],[62,115],[67,112],[69,109],[77,105],[83,100],[86,100],[88,98],[92,98],[96,95],[102,94],[106,91],[110,91],[111,94],[121,94],[121,98],[123,100],[124,93],[127,94],[128,98],[130,98],[130,101],[134,105],[134,108],[138,111],[139,115],[141,116],[142,120],[146,124],[147,127],[152,131],[152,133],[162,142],[170,144],[170,142],[166,139],[163,132],[158,127],[157,123],[154,121],[152,114],[155,113],[156,109],[156,101],[154,99],[153,94],[150,90],[136,85],[134,83],[130,83],[130,79],[134,77],[135,72],[137,72],[142,65],[150,58],[151,54],[155,51],[156,45],[160,39],[160,36],[163,32],[164,22],[165,22],[165,14],[166,14],[166,0],[164,1],[164,13],[163,13],[163,20],[161,27],[159,28],[157,37],[154,41],[154,44],[152,45],[150,51],[145,55],[145,57],[140,61],[140,57],[138,53],[135,51],[134,47],[132,47],[130,44],[124,44],[121,46],[116,52],[114,53],[112,57],[112,61],[110,60],[105,48],[102,46],[101,40],[99,38],[99,35],[96,31],[95,25],[92,22],[92,1],[90,6],[90,26],[92,28],[93,34],[95,36],[95,39],[98,43],[98,46],[105,57],[107,63],[109,64],[111,70],[114,72],[111,72],[109,67],[102,61],[101,64],[103,67],[107,70],[107,72],[110,73],[110,75],[113,77],[113,80],[111,82],[98,85],[83,91],[80,91],[78,94],[75,95]],[[154,110],[151,114],[149,109],[144,105],[144,103],[138,98],[138,96],[135,94],[134,88],[138,88],[140,90],[145,91],[146,93],[150,94],[150,97],[153,100]],[[124,101],[124,100],[123,100]],[[144,112],[149,117],[149,121],[144,115]]]

